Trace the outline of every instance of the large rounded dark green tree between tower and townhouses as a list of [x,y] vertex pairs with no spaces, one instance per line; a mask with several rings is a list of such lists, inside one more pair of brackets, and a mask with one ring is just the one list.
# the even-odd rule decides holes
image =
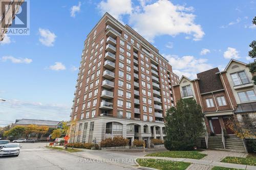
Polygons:
[[165,117],[167,150],[192,150],[203,134],[204,120],[201,106],[193,99],[181,99]]

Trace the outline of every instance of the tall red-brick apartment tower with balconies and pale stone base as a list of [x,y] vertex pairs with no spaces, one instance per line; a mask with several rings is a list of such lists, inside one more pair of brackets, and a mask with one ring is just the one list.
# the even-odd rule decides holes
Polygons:
[[71,113],[76,142],[164,138],[179,78],[156,47],[106,13],[84,41],[80,63]]

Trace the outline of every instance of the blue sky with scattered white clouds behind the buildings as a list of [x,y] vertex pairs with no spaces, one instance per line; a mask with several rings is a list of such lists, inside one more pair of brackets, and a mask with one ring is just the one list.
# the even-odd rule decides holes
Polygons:
[[156,46],[180,77],[252,62],[256,0],[37,0],[29,9],[30,35],[0,44],[0,126],[69,120],[83,42],[105,12]]

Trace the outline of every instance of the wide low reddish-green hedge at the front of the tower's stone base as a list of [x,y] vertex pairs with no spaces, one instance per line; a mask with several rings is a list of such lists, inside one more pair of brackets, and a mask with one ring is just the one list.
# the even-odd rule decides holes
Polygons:
[[108,147],[123,147],[129,144],[129,139],[125,139],[121,136],[115,136],[112,138],[106,138],[101,140],[100,147],[101,148],[108,148]]

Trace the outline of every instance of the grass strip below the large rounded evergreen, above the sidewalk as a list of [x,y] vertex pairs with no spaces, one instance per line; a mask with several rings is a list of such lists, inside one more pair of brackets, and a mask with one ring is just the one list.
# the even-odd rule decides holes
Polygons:
[[170,158],[191,158],[202,159],[206,154],[199,153],[201,151],[165,151],[147,154],[146,156],[170,157]]

